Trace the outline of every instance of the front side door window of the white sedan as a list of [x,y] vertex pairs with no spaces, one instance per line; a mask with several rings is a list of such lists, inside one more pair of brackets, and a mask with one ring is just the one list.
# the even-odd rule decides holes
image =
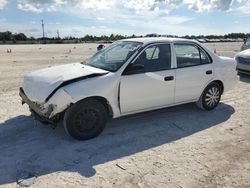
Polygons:
[[134,62],[144,66],[145,72],[171,68],[170,44],[157,44],[146,48]]

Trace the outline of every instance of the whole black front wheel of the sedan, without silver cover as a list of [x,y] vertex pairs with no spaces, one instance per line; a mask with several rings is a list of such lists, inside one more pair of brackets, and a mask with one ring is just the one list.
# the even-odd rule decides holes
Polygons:
[[65,131],[77,140],[98,136],[105,128],[107,111],[95,99],[86,99],[67,109],[63,119]]

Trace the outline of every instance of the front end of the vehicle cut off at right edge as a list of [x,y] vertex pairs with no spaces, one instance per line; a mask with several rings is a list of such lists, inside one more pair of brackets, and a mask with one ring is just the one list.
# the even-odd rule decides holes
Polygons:
[[241,51],[235,56],[239,73],[250,74],[250,49]]

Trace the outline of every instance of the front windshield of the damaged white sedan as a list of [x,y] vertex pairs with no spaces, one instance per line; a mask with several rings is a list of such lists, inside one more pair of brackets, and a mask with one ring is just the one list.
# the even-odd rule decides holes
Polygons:
[[118,41],[108,48],[96,52],[86,60],[86,65],[108,70],[117,71],[142,45],[140,42]]

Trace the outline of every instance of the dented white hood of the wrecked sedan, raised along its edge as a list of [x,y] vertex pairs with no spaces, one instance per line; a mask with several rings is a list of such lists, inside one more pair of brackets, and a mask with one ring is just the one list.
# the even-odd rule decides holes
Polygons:
[[58,65],[25,75],[22,88],[31,101],[42,103],[67,81],[77,81],[78,78],[84,79],[107,72],[81,63]]

